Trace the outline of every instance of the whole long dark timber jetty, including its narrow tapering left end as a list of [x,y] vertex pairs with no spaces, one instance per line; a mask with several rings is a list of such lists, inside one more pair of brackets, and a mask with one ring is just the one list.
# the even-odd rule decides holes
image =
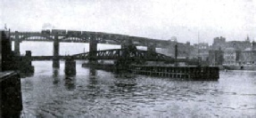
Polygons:
[[156,65],[129,65],[128,67],[118,67],[109,64],[83,64],[82,67],[94,67],[111,72],[130,72],[135,75],[150,75],[174,78],[191,81],[218,81],[219,67],[201,66],[156,66]]

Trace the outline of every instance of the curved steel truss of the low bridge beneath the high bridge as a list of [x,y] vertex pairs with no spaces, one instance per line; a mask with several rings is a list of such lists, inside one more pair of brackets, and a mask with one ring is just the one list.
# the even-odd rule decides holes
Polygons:
[[147,61],[171,61],[173,58],[153,51],[128,51],[126,49],[113,49],[92,51],[72,55],[73,59],[133,59]]

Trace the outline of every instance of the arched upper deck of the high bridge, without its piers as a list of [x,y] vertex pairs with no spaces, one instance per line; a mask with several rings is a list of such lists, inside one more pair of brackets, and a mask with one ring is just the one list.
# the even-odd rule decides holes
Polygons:
[[91,40],[95,40],[97,43],[108,44],[122,44],[128,39],[132,40],[136,45],[148,46],[152,43],[156,44],[156,47],[161,47],[161,44],[168,43],[168,41],[131,36],[120,35],[103,32],[90,32],[90,31],[70,31],[63,29],[53,29],[49,32],[11,32],[12,41],[38,41],[38,42],[54,42],[56,40],[54,36],[58,36],[58,42],[62,43],[89,43]]

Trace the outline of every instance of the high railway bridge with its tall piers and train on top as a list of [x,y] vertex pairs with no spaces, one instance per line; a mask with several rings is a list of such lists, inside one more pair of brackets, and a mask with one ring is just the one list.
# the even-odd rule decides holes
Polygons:
[[[53,58],[54,60],[53,67],[60,67],[59,60],[63,58],[63,57],[60,57],[60,54],[59,54],[60,43],[89,43],[89,52],[93,54],[93,55],[90,55],[91,57],[100,55],[101,53],[112,52],[117,55],[118,52],[121,52],[121,50],[97,51],[97,43],[119,44],[121,45],[121,49],[125,49],[129,45],[146,46],[147,51],[153,51],[153,52],[155,52],[156,48],[169,46],[168,45],[169,41],[163,41],[163,40],[157,40],[157,39],[151,39],[151,38],[145,38],[145,37],[109,34],[109,33],[102,33],[102,32],[70,31],[70,30],[62,30],[62,29],[42,30],[42,32],[15,31],[15,32],[11,32],[10,37],[11,37],[11,40],[14,41],[14,52],[17,55],[20,55],[20,43],[22,41],[54,42],[54,56],[47,57],[47,58]],[[146,53],[145,51],[137,51],[138,55],[145,54],[145,53]],[[157,54],[156,56],[161,57],[160,54]],[[107,58],[108,56],[104,56],[104,57]]]

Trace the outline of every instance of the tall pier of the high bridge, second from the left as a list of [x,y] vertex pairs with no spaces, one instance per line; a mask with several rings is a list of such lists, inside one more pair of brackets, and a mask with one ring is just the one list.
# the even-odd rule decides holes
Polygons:
[[60,58],[59,58],[60,42],[58,35],[54,35],[54,59],[53,67],[60,67]]

